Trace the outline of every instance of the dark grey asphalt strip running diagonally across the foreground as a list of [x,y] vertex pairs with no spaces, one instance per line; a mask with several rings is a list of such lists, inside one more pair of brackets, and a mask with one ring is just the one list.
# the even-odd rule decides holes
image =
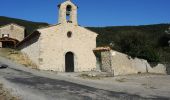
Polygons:
[[145,98],[123,92],[106,91],[63,80],[49,79],[39,76],[28,78],[6,77],[12,83],[36,89],[56,98],[68,100],[169,100],[169,98],[152,96]]

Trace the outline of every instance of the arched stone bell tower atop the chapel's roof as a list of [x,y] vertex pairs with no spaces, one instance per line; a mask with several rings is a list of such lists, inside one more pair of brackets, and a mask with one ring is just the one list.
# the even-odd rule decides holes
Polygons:
[[71,2],[71,0],[67,0],[64,3],[58,5],[59,7],[59,18],[58,23],[66,24],[72,23],[78,25],[77,22],[77,6]]

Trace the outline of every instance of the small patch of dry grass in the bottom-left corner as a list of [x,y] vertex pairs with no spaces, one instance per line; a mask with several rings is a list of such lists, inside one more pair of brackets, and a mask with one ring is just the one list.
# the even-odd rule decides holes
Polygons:
[[19,97],[12,96],[8,90],[5,90],[0,83],[0,100],[21,100]]

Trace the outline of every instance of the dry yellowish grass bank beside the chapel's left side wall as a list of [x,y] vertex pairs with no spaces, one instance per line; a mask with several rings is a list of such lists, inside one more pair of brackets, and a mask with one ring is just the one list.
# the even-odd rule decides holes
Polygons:
[[0,48],[0,56],[22,64],[26,67],[37,69],[37,65],[34,64],[25,54],[21,53],[20,51],[9,48]]

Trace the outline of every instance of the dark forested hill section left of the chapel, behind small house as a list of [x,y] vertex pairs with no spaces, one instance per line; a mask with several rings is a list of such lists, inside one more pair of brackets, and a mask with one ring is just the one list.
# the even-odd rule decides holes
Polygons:
[[21,20],[21,19],[16,19],[16,18],[0,16],[0,26],[10,24],[10,23],[15,23],[15,24],[24,26],[26,28],[27,35],[33,32],[33,30],[37,28],[48,25],[47,23],[32,22],[32,21],[26,21],[26,20]]

